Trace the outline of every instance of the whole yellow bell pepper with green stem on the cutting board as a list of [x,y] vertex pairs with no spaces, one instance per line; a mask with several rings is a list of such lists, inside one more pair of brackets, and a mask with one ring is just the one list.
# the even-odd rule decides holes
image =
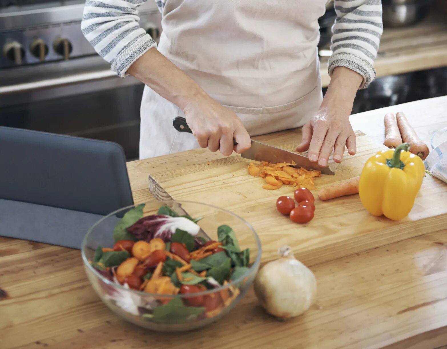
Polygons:
[[358,195],[374,216],[401,220],[409,214],[425,175],[422,159],[403,143],[368,159],[360,175]]

